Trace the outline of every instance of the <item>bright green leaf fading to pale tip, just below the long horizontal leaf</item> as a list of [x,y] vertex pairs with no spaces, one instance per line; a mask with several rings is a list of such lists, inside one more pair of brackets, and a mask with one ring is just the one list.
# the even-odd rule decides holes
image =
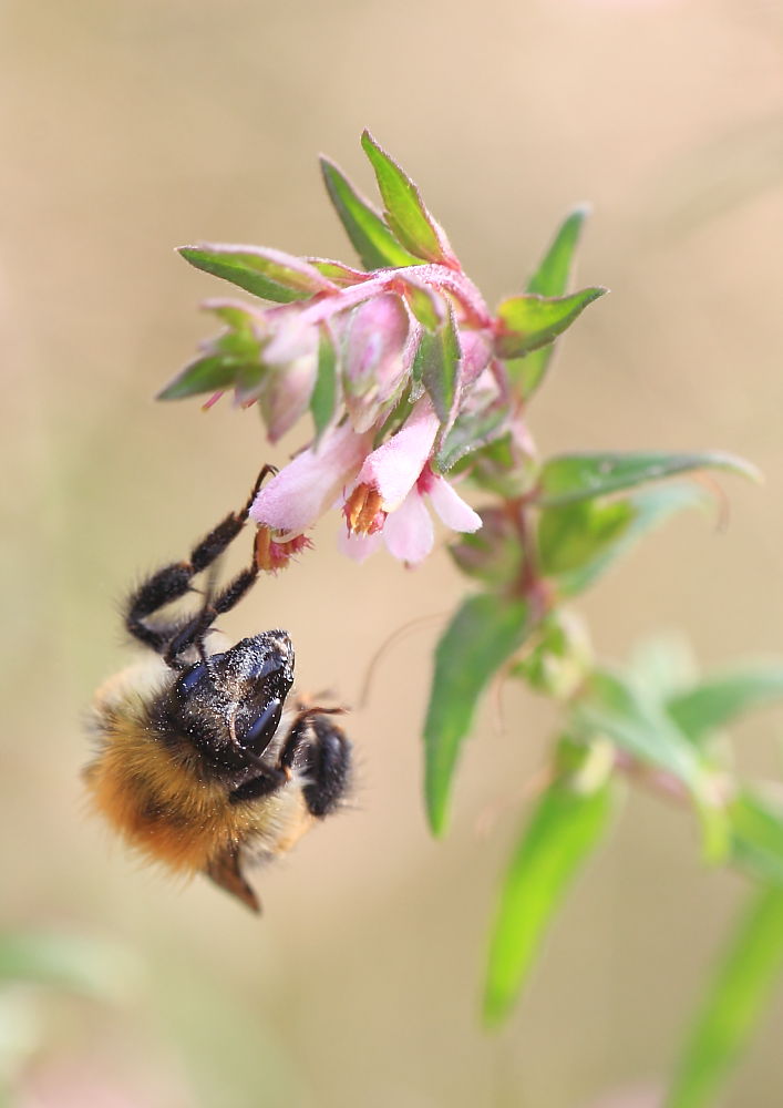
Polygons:
[[562,596],[576,596],[677,512],[703,507],[703,490],[684,482],[643,489],[624,500],[583,500],[542,511],[542,570]]

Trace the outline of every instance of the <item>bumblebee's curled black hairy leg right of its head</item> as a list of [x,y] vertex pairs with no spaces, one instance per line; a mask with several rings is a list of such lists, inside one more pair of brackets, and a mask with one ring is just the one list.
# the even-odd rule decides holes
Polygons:
[[280,768],[287,773],[301,763],[307,779],[305,803],[319,818],[338,808],[351,783],[351,743],[329,718],[339,711],[302,712],[280,752]]

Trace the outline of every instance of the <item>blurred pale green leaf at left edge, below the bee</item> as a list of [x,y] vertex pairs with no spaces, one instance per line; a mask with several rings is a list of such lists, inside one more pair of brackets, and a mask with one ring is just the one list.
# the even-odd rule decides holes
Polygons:
[[116,1001],[132,989],[138,966],[114,943],[54,932],[0,933],[0,983],[27,982]]

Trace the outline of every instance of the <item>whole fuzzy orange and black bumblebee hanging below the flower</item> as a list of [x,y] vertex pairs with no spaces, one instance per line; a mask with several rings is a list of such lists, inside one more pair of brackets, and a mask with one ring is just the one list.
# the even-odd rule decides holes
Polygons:
[[97,749],[84,770],[92,807],[128,845],[175,873],[206,874],[254,912],[260,904],[246,866],[284,854],[349,790],[351,746],[334,722],[341,709],[287,707],[293,646],[285,630],[215,648],[215,619],[260,573],[255,552],[224,588],[207,586],[195,615],[165,622],[158,612],[194,592],[197,575],[214,575],[270,472],[187,561],[153,573],[127,598],[125,627],[156,657],[97,690]]

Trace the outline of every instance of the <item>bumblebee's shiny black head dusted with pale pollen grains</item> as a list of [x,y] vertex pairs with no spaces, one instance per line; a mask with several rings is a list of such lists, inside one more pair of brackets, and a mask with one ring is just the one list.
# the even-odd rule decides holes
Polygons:
[[172,707],[204,753],[235,767],[243,750],[266,750],[292,684],[293,644],[286,632],[267,630],[186,669]]

